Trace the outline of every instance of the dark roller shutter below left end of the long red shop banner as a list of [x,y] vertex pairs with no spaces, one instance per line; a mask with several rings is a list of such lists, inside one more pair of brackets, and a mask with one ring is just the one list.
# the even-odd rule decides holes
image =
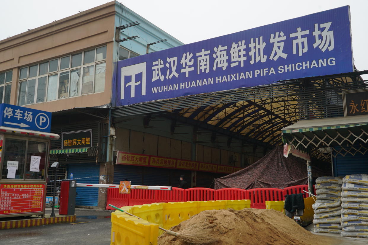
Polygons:
[[143,167],[131,165],[114,165],[114,184],[120,184],[120,181],[128,179],[131,184],[143,185]]

